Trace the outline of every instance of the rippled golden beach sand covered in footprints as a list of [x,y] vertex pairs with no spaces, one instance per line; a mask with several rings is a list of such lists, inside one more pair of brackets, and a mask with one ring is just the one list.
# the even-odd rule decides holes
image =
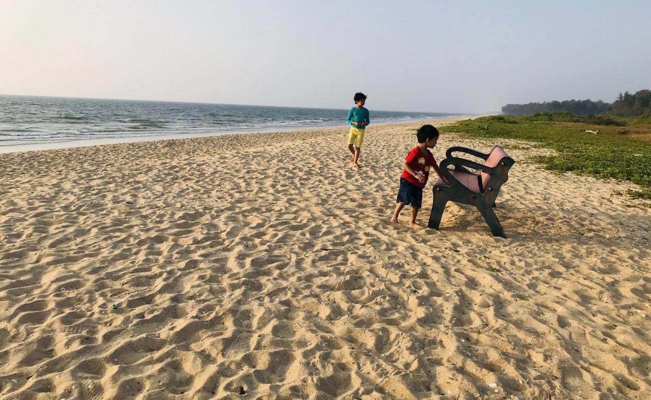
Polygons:
[[0,398],[651,399],[633,185],[443,135],[516,160],[508,239],[455,204],[395,226],[420,124],[359,170],[346,128],[0,155]]

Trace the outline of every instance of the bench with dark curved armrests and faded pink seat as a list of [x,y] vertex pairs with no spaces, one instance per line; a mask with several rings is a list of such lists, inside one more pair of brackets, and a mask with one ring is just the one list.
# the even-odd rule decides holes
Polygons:
[[[484,159],[484,164],[475,163],[461,157],[452,157],[453,152],[464,152],[475,157]],[[493,147],[488,154],[478,152],[465,147],[450,147],[445,152],[445,159],[441,161],[439,167],[443,178],[448,181],[449,185],[443,183],[439,178],[434,183],[434,203],[430,213],[428,228],[438,229],[441,224],[441,217],[447,202],[457,202],[475,206],[479,209],[486,223],[490,227],[493,236],[506,237],[502,225],[499,223],[493,207],[495,199],[499,194],[499,189],[508,180],[508,170],[513,166],[515,161],[500,146]],[[452,165],[454,169],[448,167]],[[473,174],[467,170],[480,171]]]

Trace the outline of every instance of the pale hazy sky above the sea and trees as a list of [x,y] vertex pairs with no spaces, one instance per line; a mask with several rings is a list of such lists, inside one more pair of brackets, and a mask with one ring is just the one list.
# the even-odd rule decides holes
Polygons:
[[651,1],[0,0],[0,93],[482,113],[651,88]]

